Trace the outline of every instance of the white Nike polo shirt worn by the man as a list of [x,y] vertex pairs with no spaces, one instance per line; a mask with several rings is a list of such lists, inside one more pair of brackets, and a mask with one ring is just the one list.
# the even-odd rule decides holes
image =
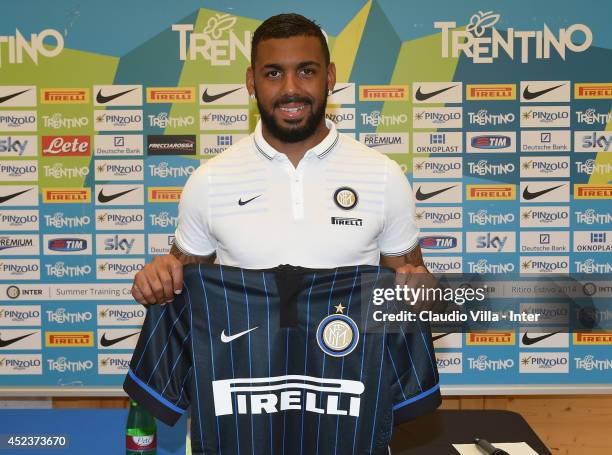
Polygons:
[[329,134],[297,168],[255,132],[201,165],[179,204],[175,245],[222,265],[333,268],[415,247],[414,199],[399,165]]

